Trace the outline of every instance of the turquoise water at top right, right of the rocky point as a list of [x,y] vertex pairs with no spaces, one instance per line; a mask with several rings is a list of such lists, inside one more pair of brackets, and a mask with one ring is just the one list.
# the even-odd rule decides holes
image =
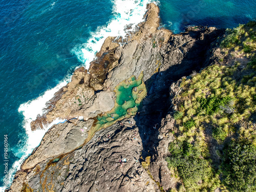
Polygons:
[[175,33],[188,25],[233,28],[256,18],[252,0],[160,0],[163,27]]

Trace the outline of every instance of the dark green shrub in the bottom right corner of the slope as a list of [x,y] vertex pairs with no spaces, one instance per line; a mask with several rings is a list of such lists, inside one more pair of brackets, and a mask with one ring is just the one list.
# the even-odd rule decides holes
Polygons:
[[256,190],[256,147],[248,140],[232,140],[224,150],[224,183],[231,192]]

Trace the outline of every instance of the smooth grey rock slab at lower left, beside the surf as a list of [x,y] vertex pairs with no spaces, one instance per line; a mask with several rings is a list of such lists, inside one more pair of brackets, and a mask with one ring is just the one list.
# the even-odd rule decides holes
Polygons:
[[23,169],[33,168],[45,159],[58,157],[82,145],[87,138],[87,132],[89,131],[89,127],[92,126],[93,121],[79,121],[74,119],[54,125],[45,134],[36,150],[25,160],[22,165]]

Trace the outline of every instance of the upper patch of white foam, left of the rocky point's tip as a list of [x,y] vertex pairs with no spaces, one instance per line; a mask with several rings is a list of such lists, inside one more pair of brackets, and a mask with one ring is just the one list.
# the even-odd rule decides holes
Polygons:
[[[90,62],[95,58],[95,54],[100,50],[104,40],[108,36],[125,37],[127,32],[134,31],[137,24],[143,22],[146,5],[150,0],[115,0],[113,1],[112,14],[115,15],[108,26],[99,26],[95,32],[91,33],[91,38],[83,45],[76,46],[72,53],[89,69]],[[125,30],[129,26],[129,30]]]

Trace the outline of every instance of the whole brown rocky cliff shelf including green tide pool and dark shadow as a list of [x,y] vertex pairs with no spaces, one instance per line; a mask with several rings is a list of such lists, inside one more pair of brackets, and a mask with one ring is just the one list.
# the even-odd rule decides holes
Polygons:
[[32,130],[68,120],[46,133],[7,191],[167,191],[180,184],[164,160],[174,139],[169,88],[209,65],[224,31],[172,34],[158,29],[158,13],[150,4],[128,39],[107,38],[89,73],[77,69],[48,102]]

